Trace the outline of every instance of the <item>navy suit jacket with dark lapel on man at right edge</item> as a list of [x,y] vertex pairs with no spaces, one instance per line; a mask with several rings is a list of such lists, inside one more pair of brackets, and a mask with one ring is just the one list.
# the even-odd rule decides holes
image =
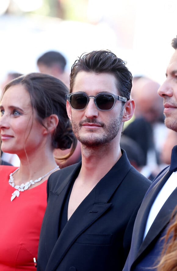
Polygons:
[[177,205],[177,188],[162,206],[144,240],[143,236],[151,206],[171,174],[169,167],[161,171],[143,199],[135,220],[131,249],[123,271],[147,271],[147,268],[154,270],[154,266],[157,265],[164,243],[162,237]]

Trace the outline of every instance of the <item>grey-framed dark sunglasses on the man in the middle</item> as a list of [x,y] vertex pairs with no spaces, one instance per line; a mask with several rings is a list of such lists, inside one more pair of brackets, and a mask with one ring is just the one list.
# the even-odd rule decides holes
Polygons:
[[126,102],[127,98],[116,96],[109,93],[99,93],[96,96],[88,96],[83,92],[75,92],[65,95],[70,106],[75,110],[83,110],[88,105],[90,98],[94,99],[94,103],[99,110],[111,110],[116,101]]

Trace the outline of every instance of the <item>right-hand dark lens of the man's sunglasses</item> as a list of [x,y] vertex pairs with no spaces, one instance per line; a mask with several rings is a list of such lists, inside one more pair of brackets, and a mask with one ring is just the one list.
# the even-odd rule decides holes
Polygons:
[[101,110],[110,110],[114,105],[114,97],[110,94],[100,94],[96,97],[96,104]]

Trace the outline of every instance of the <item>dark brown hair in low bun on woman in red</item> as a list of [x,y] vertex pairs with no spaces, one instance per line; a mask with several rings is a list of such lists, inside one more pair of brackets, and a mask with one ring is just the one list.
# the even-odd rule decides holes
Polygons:
[[61,158],[61,160],[67,159],[77,145],[66,111],[65,94],[69,92],[67,86],[56,77],[42,73],[29,73],[10,81],[5,86],[2,96],[8,88],[18,84],[23,85],[29,93],[32,108],[36,110],[38,121],[43,126],[45,126],[43,123],[45,118],[52,114],[58,116],[59,123],[52,135],[52,147],[64,150],[72,145],[70,154]]

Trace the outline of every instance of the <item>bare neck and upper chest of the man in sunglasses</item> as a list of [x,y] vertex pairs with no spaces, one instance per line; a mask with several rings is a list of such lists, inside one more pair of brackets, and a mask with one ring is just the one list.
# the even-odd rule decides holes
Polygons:
[[118,144],[114,148],[114,144],[111,144],[111,146],[107,145],[104,144],[101,147],[94,148],[81,146],[82,166],[71,191],[68,204],[68,219],[99,183],[100,179],[110,171],[121,157],[121,149]]

